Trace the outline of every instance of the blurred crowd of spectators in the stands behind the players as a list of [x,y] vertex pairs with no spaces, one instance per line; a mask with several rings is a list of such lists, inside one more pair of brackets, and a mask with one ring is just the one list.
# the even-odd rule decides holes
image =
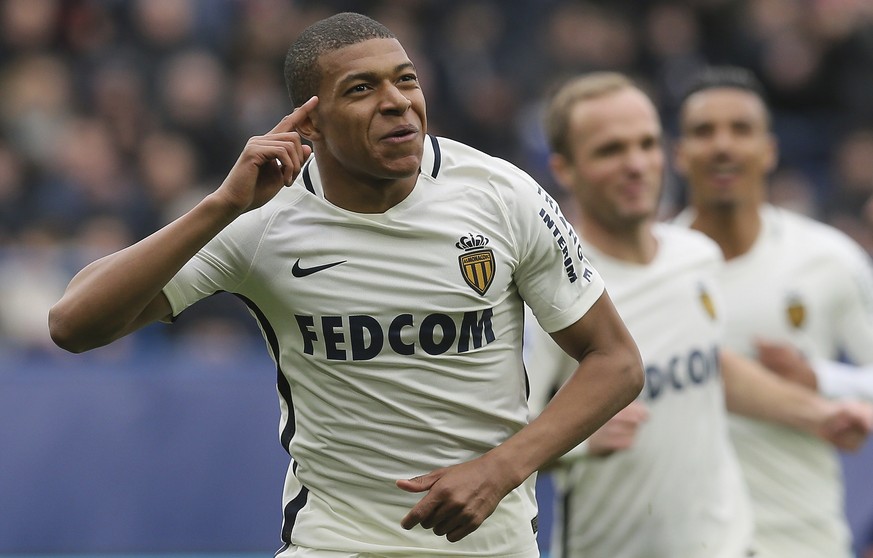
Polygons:
[[[431,132],[550,188],[540,113],[562,79],[631,74],[661,107],[669,146],[686,77],[747,66],[781,142],[773,200],[873,252],[869,0],[3,0],[0,346],[52,351],[45,313],[72,274],[215,188],[245,141],[289,111],[290,40],[346,9],[406,45]],[[667,183],[665,214],[683,198]],[[180,320],[173,341],[171,328],[139,338],[257,336],[241,308],[219,301]]]

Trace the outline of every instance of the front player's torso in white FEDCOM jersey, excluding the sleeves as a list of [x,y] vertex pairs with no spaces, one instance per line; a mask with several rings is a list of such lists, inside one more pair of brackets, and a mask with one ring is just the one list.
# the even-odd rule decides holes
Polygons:
[[[258,250],[240,291],[275,328],[290,387],[294,476],[309,490],[293,539],[410,556],[440,546],[399,528],[421,495],[394,481],[477,457],[527,417],[518,254],[499,196],[421,177],[369,215],[311,195],[276,216]],[[458,555],[529,556],[533,482]]]

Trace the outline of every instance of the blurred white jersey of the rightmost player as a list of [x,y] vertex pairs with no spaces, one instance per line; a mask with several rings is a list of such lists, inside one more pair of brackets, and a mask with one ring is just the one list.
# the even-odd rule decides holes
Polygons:
[[[873,276],[843,233],[764,206],[752,249],[726,262],[726,346],[755,356],[757,338],[790,343],[811,359],[873,362]],[[688,224],[693,213],[680,215]],[[762,558],[849,558],[842,470],[826,442],[797,430],[731,417],[752,494]]]

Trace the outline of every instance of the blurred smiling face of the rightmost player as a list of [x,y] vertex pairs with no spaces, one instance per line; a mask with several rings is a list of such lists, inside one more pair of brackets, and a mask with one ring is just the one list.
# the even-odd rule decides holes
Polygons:
[[682,108],[676,168],[696,207],[754,205],[765,197],[776,142],[761,99],[737,88],[691,95]]

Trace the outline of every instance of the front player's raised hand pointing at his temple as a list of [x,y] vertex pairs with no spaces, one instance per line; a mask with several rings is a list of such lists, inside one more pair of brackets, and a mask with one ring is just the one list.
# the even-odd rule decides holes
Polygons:
[[249,138],[216,194],[242,214],[270,201],[282,186],[290,186],[312,153],[297,127],[317,104],[318,97],[312,97],[263,136]]

